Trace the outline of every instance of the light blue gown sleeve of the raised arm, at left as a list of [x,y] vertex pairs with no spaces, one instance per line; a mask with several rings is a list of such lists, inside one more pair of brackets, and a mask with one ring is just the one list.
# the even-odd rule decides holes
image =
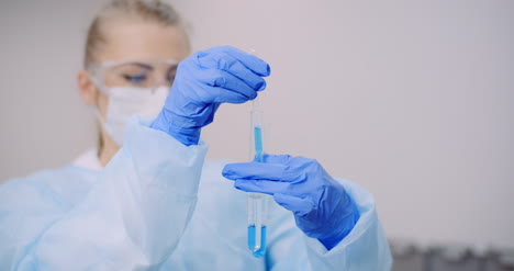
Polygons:
[[[123,148],[83,200],[63,215],[32,212],[41,218],[30,219],[35,223],[29,226],[36,228],[35,234],[29,240],[25,238],[22,248],[0,249],[0,267],[2,270],[158,267],[172,253],[190,221],[205,153],[203,143],[187,147],[132,118]],[[31,211],[20,201],[10,204],[9,199],[16,191],[5,190],[9,189],[0,188],[0,241],[11,245],[23,239],[13,235],[16,227],[24,226],[13,224],[16,219],[11,218]],[[37,199],[24,199],[33,200]],[[45,201],[57,201],[44,195],[38,200],[43,205],[47,204]]]

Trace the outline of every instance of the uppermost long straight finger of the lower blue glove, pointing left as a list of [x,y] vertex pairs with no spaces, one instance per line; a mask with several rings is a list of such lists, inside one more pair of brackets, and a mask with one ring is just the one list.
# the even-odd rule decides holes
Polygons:
[[271,180],[290,182],[295,180],[298,174],[289,170],[288,166],[266,162],[236,162],[228,163],[223,168],[222,174],[231,180]]

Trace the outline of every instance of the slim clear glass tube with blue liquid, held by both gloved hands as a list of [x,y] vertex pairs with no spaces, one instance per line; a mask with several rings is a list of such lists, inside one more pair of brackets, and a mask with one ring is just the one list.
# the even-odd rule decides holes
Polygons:
[[[253,101],[250,118],[250,159],[257,162],[264,162],[262,111],[260,110],[260,102],[258,99]],[[268,195],[262,193],[248,193],[248,249],[258,258],[266,253],[268,197]]]

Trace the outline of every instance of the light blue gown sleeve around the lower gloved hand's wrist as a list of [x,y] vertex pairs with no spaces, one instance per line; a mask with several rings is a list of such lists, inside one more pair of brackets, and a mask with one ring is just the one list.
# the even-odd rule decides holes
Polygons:
[[270,238],[268,270],[391,270],[392,257],[372,195],[355,183],[339,181],[360,212],[360,218],[351,232],[336,247],[327,250],[317,239],[293,228],[292,215],[289,218],[278,216],[280,219],[272,226],[276,236]]

